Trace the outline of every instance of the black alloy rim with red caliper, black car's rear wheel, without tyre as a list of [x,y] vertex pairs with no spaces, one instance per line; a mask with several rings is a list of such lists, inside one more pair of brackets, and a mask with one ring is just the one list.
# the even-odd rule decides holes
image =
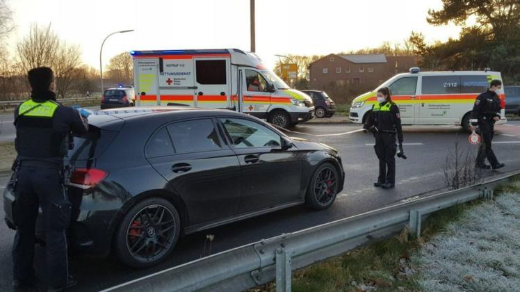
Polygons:
[[170,250],[176,234],[172,212],[160,204],[138,211],[127,228],[127,249],[137,261],[160,259]]

